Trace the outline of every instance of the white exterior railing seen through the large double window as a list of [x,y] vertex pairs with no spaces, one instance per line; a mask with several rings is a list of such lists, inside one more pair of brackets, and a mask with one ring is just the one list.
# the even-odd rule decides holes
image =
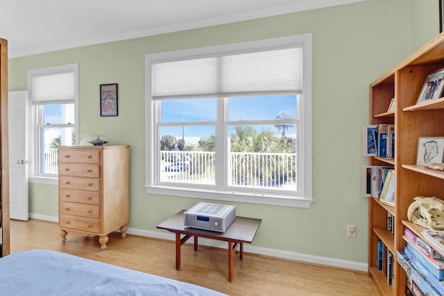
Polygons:
[[[161,182],[215,183],[215,153],[160,151]],[[229,153],[228,185],[296,189],[296,154]]]

